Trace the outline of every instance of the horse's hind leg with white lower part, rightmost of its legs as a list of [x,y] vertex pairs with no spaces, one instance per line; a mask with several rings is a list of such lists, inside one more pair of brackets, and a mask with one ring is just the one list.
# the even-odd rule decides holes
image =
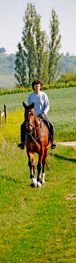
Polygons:
[[48,149],[45,151],[43,160],[42,160],[43,169],[42,169],[42,174],[41,174],[41,183],[45,183],[45,164],[46,164],[47,156],[48,156]]

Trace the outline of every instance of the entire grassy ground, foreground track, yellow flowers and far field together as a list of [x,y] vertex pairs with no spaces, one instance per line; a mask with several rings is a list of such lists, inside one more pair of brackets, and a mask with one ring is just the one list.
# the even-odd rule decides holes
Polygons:
[[[49,117],[58,140],[75,140],[75,88],[46,91]],[[26,149],[17,148],[27,93],[1,96],[1,263],[75,263],[76,259],[76,151],[58,145],[49,149],[45,184],[31,188]],[[22,108],[22,109],[18,109]],[[11,111],[11,112],[10,112]],[[36,164],[38,156],[35,154]],[[37,172],[36,172],[37,173]],[[37,175],[37,174],[36,174]]]

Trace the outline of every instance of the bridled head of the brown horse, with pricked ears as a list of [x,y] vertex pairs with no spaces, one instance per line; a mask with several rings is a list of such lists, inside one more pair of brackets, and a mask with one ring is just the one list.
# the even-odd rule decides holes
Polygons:
[[25,116],[27,132],[31,133],[34,125],[34,103],[30,105],[26,105],[23,102],[23,107],[25,108],[24,116]]

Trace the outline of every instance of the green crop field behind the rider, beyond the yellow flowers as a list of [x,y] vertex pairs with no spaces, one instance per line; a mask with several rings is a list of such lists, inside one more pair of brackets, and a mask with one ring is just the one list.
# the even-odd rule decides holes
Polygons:
[[[73,141],[75,138],[75,112],[76,112],[76,88],[64,88],[45,91],[49,98],[50,117],[55,128],[56,141]],[[8,111],[15,111],[18,107],[22,108],[22,102],[27,103],[27,93],[10,94],[0,96],[1,109],[4,110],[4,104]]]

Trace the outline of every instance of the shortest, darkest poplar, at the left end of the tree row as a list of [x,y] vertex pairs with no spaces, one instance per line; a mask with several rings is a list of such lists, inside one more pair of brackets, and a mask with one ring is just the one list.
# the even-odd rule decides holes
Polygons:
[[22,48],[21,43],[18,43],[18,52],[16,52],[15,60],[15,78],[20,86],[25,86],[26,83],[26,53]]

